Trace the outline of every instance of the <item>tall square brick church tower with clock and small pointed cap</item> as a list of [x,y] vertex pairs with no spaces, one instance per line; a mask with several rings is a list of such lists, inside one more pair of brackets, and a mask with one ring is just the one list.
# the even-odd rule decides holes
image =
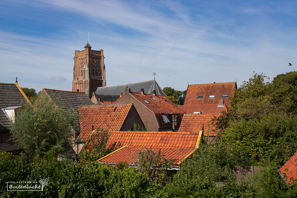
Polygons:
[[91,97],[97,87],[105,87],[103,50],[91,50],[89,42],[85,50],[75,50],[72,91],[86,92]]

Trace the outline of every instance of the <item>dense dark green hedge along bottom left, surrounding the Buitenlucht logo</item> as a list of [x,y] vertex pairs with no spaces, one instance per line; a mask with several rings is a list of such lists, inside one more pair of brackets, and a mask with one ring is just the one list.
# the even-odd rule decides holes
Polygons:
[[[170,197],[161,184],[151,182],[133,168],[118,168],[97,162],[35,158],[0,152],[0,197]],[[49,178],[43,191],[7,191],[7,181],[38,181]]]

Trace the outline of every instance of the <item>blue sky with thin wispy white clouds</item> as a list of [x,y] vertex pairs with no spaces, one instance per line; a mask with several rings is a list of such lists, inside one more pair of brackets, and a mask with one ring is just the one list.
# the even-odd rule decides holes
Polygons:
[[[106,84],[163,88],[297,70],[297,1],[14,1],[0,4],[0,82],[72,90],[74,51],[104,50]],[[288,66],[288,63],[293,66]]]

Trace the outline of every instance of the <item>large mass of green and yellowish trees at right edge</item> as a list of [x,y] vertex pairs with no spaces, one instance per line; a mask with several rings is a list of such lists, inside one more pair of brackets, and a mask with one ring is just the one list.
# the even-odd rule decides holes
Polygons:
[[297,72],[277,75],[271,83],[265,79],[261,73],[243,82],[217,127],[222,141],[242,155],[259,159],[271,154],[282,165],[297,150]]

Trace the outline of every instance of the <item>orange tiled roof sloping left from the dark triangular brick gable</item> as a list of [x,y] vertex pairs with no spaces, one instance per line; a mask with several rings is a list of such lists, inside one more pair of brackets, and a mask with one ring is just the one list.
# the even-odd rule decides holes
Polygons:
[[[91,131],[100,128],[119,131],[133,104],[79,106],[80,134],[76,141],[85,142]],[[93,128],[94,127],[94,128]]]

